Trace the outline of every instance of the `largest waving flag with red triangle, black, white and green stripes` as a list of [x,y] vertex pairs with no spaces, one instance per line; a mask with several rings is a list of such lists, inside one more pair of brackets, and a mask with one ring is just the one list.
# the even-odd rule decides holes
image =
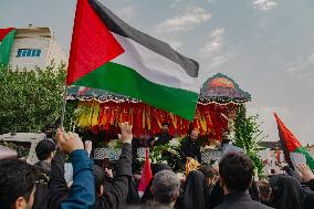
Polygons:
[[76,6],[67,85],[138,98],[192,121],[198,63],[116,17],[97,0]]

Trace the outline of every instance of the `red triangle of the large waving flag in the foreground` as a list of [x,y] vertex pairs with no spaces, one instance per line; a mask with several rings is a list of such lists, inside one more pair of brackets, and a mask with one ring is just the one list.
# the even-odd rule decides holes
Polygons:
[[88,0],[77,0],[66,84],[74,83],[123,52]]

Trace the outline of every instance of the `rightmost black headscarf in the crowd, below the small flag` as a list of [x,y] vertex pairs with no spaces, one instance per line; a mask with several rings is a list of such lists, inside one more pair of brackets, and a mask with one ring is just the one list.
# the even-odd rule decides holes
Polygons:
[[278,175],[270,179],[276,209],[301,209],[304,197],[301,184],[293,177]]

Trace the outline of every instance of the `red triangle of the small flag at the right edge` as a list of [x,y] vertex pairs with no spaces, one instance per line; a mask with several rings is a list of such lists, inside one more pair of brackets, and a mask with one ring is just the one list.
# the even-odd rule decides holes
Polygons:
[[278,130],[280,132],[282,139],[285,142],[287,150],[294,151],[294,149],[296,149],[297,147],[301,147],[301,143],[292,134],[292,132],[290,132],[290,129],[286,128],[286,126],[282,123],[282,121],[279,118],[276,113],[274,113],[274,116],[275,116],[276,124],[278,124]]

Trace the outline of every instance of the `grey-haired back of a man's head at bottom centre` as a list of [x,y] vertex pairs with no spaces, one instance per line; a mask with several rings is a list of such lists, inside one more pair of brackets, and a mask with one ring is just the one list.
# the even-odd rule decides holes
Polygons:
[[171,170],[161,170],[154,176],[151,192],[155,201],[171,205],[179,195],[180,180]]

